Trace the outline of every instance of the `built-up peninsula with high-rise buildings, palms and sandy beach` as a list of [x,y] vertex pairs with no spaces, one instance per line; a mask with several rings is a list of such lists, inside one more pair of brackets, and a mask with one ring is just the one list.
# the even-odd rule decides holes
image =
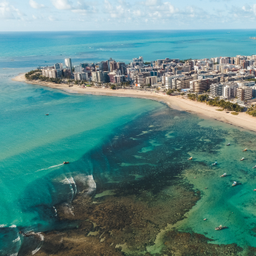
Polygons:
[[256,55],[156,62],[143,62],[140,57],[128,65],[110,59],[72,66],[66,59],[65,69],[57,63],[13,80],[70,94],[148,98],[256,131],[255,60]]

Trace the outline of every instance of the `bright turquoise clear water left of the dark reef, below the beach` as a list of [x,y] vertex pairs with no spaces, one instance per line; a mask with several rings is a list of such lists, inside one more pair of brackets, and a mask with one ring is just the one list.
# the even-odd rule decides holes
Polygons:
[[58,188],[50,181],[53,177],[47,176],[54,173],[54,177],[65,179],[70,168],[72,172],[90,173],[81,162],[71,167],[62,162],[78,161],[116,127],[162,107],[159,102],[144,99],[65,94],[12,82],[6,74],[1,79],[2,227],[49,226],[38,206],[53,207],[59,200],[69,201],[70,191],[60,199]]

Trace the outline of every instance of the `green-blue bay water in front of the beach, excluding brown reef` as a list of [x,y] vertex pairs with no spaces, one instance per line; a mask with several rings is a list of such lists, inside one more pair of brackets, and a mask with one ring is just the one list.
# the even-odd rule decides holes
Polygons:
[[[9,254],[21,250],[19,230],[60,228],[54,206],[62,203],[66,214],[73,214],[70,202],[82,187],[88,195],[98,194],[96,200],[117,191],[121,195],[122,188],[126,191],[122,196],[141,190],[168,193],[180,175],[194,190],[202,191],[202,199],[187,218],[166,230],[175,227],[204,234],[216,244],[256,246],[254,133],[144,99],[69,95],[18,86],[24,90],[16,96],[15,106],[1,113],[0,130],[5,136],[1,138],[4,226],[0,233],[8,234],[2,255],[6,250]],[[31,102],[30,97],[38,100]],[[45,116],[48,112],[50,116]],[[245,148],[248,151],[242,152]],[[187,161],[190,156],[193,161]],[[243,162],[239,161],[242,157],[246,158]],[[63,166],[67,160],[70,165]],[[212,166],[215,161],[218,165]],[[223,173],[228,176],[220,178]],[[232,187],[234,181],[241,185]],[[220,224],[229,228],[215,231]],[[17,227],[8,228],[11,225]],[[15,242],[10,247],[8,241]],[[161,243],[160,239],[155,245],[158,249],[149,247],[148,251],[159,252]]]

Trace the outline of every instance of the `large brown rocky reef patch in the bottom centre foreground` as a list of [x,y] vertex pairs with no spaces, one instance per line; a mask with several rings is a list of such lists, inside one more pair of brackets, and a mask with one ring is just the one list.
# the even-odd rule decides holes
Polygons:
[[[174,184],[158,194],[142,190],[137,195],[78,195],[74,214],[58,209],[62,222],[79,221],[71,230],[45,234],[37,255],[138,255],[155,245],[158,233],[174,224],[194,206],[200,193]],[[107,194],[107,193],[106,193]],[[125,194],[122,191],[122,194]]]

